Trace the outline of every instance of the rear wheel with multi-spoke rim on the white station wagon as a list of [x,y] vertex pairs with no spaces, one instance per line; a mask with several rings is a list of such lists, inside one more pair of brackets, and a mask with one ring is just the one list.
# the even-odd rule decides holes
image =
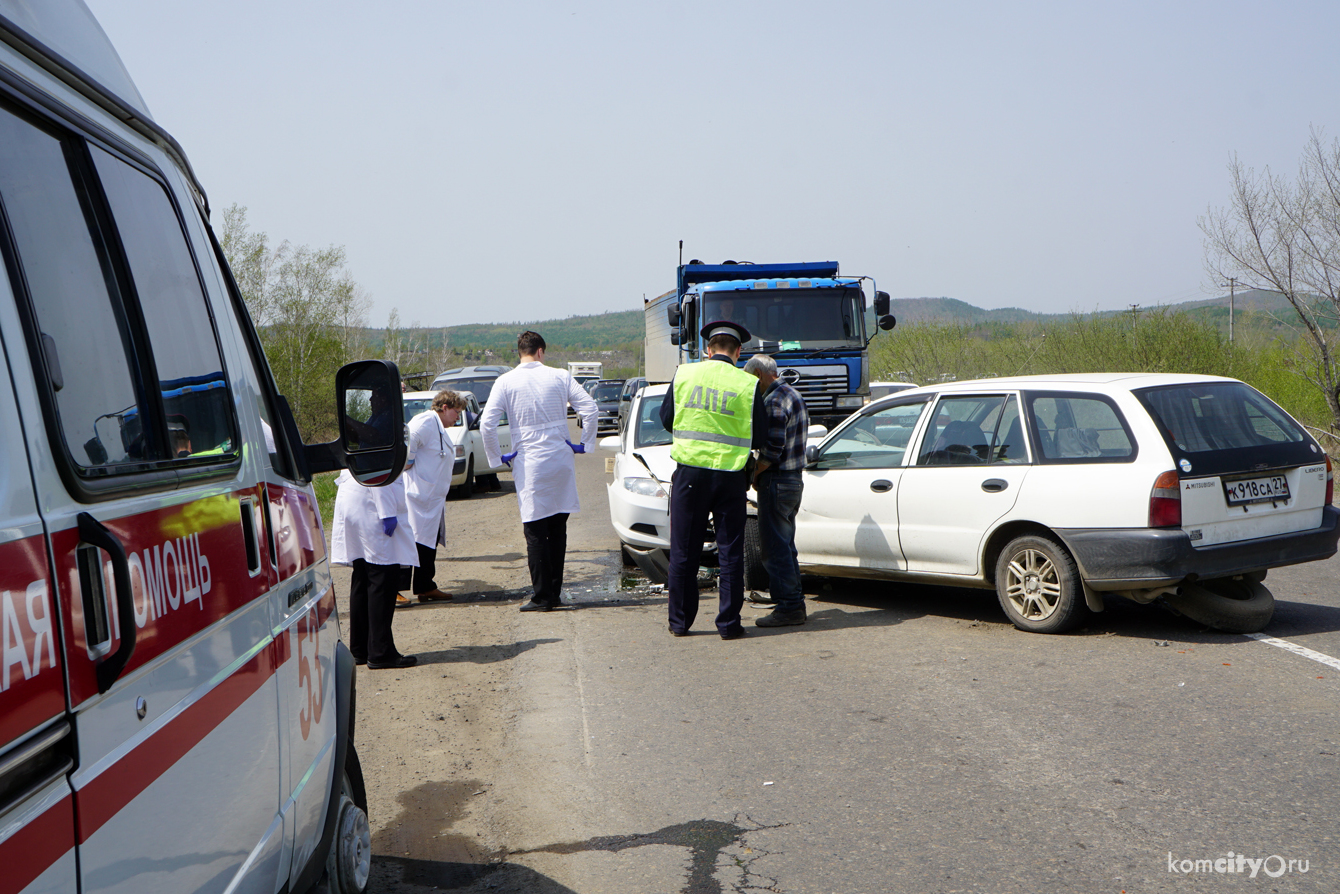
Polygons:
[[1016,537],[1001,550],[996,595],[1010,623],[1029,633],[1063,633],[1089,614],[1075,559],[1048,537]]

